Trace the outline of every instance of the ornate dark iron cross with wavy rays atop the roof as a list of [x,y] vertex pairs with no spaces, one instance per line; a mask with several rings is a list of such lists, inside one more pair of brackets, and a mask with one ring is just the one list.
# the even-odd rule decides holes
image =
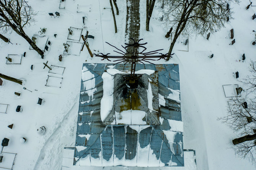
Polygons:
[[[157,51],[161,51],[161,50],[164,50],[164,49],[144,52],[144,51],[147,50],[147,48],[144,47],[143,45],[146,45],[147,42],[146,43],[139,43],[143,39],[139,39],[137,42],[134,40],[134,38],[130,38],[130,39],[133,40],[133,43],[125,43],[125,45],[126,45],[125,47],[123,47],[123,45],[121,45],[125,50],[120,50],[117,47],[115,47],[115,46],[111,45],[110,43],[106,42],[110,46],[116,48],[118,51],[115,51],[115,50],[113,50],[113,51],[115,51],[116,53],[119,53],[120,56],[108,56],[110,53],[107,53],[107,54],[100,53],[100,55],[98,55],[98,54],[94,54],[94,55],[97,56],[97,57],[101,57],[102,60],[107,59],[108,61],[111,61],[110,59],[113,58],[113,59],[115,59],[115,60],[113,60],[113,62],[117,62],[115,64],[122,63],[122,62],[124,64],[131,63],[131,74],[129,76],[124,76],[124,78],[126,80],[129,80],[128,82],[130,84],[132,84],[132,83],[135,83],[135,80],[138,80],[139,77],[141,77],[141,75],[135,75],[136,63],[144,64],[143,62],[147,62],[147,63],[150,63],[150,64],[154,64],[154,63],[151,63],[150,61],[157,61],[157,60],[160,60],[160,59],[166,59],[169,56],[168,56],[168,53],[167,54],[162,54],[162,53],[157,52]],[[132,48],[132,50],[131,51],[128,50],[128,47]],[[139,47],[143,48],[143,50],[141,52],[138,51]],[[173,54],[171,54],[170,57],[172,57]]]

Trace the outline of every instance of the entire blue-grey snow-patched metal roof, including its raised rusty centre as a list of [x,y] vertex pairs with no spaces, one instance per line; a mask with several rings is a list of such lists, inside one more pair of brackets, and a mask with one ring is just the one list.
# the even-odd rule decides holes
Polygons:
[[136,64],[144,84],[120,91],[130,67],[83,64],[74,165],[184,166],[178,64]]

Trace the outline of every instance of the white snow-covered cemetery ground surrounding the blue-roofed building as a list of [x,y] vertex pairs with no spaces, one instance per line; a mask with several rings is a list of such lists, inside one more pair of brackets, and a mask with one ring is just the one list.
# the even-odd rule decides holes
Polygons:
[[[169,27],[164,27],[159,21],[162,13],[160,8],[156,7],[150,21],[150,32],[146,32],[145,2],[145,0],[140,2],[140,38],[144,38],[142,42],[148,42],[146,45],[148,50],[164,48],[162,53],[167,53],[170,40],[164,36]],[[13,45],[0,40],[0,73],[24,80],[25,83],[19,85],[3,80],[3,86],[0,86],[0,103],[10,104],[7,114],[0,113],[0,140],[10,139],[8,146],[3,148],[3,152],[17,154],[14,170],[61,170],[64,147],[75,146],[83,63],[108,62],[101,61],[95,56],[91,58],[86,47],[81,53],[72,51],[75,55],[63,55],[63,43],[68,40],[68,28],[83,28],[89,31],[89,35],[95,37],[88,39],[92,53],[114,55],[114,48],[105,42],[116,47],[124,44],[126,0],[117,0],[120,14],[116,15],[118,29],[116,34],[107,0],[66,0],[61,4],[61,7],[65,5],[65,9],[59,9],[59,0],[29,0],[28,4],[37,12],[37,15],[36,22],[26,27],[25,32],[32,37],[34,34],[39,34],[40,28],[45,27],[47,30],[42,35],[49,37],[51,45],[49,51],[45,50],[45,58],[41,59],[35,50],[29,50],[28,42],[15,32],[6,35]],[[229,99],[225,97],[222,85],[242,86],[238,80],[245,78],[248,74],[250,59],[256,61],[256,47],[251,45],[255,38],[253,30],[256,29],[256,20],[252,20],[251,16],[255,13],[256,7],[251,6],[245,10],[248,4],[250,4],[249,0],[241,1],[239,5],[230,4],[234,11],[234,19],[230,19],[225,28],[212,33],[209,40],[206,40],[206,35],[202,37],[190,34],[188,51],[180,51],[187,48],[177,43],[173,50],[175,53],[173,58],[168,62],[164,60],[155,62],[179,64],[181,115],[184,122],[183,144],[184,149],[196,151],[198,170],[254,170],[256,168],[248,160],[235,155],[231,141],[237,137],[237,134],[217,120],[218,117],[226,115]],[[55,11],[60,13],[60,17],[49,16],[48,13],[55,13]],[[83,24],[83,16],[86,16],[85,24]],[[229,38],[232,28],[236,43],[229,45],[232,41]],[[57,34],[57,37],[55,38],[53,34]],[[83,43],[82,39],[80,43]],[[79,50],[80,47],[74,49]],[[22,58],[21,64],[6,64],[5,57],[8,54],[23,54],[25,51],[26,56]],[[210,59],[208,56],[212,53],[214,57]],[[240,61],[243,53],[246,56],[244,62]],[[58,56],[61,54],[62,62],[58,61]],[[65,67],[63,75],[49,73],[47,67],[43,69],[43,63],[47,61],[49,66]],[[31,65],[34,65],[33,70],[30,69]],[[239,78],[235,79],[233,73],[237,71]],[[45,86],[48,75],[63,77],[61,88]],[[52,83],[58,85],[58,82]],[[24,90],[23,87],[32,92]],[[21,96],[14,95],[14,92],[21,93]],[[43,98],[45,102],[42,105],[37,104],[38,98]],[[23,112],[15,111],[18,105],[23,107]],[[0,109],[4,110],[2,107]],[[13,128],[8,128],[7,126],[12,123]],[[46,133],[43,136],[37,133],[37,128],[42,126],[46,127]],[[25,143],[19,142],[22,137],[27,139]],[[9,161],[6,164],[9,165]],[[86,169],[96,168],[86,167]]]

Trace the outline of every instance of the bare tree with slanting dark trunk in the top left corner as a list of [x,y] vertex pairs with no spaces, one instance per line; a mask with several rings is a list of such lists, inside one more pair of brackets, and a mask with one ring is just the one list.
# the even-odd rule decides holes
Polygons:
[[36,43],[34,43],[23,30],[25,26],[33,22],[32,16],[32,10],[28,11],[26,9],[24,0],[0,0],[0,30],[14,30],[43,58],[44,52],[37,47]]

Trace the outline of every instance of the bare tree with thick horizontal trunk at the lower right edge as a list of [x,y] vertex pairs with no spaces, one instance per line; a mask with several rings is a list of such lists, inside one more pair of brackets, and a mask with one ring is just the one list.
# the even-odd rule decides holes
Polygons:
[[[247,98],[247,97],[246,97]],[[228,115],[221,118],[230,128],[239,133],[232,140],[236,154],[255,163],[256,156],[256,100],[232,98],[228,101]]]

